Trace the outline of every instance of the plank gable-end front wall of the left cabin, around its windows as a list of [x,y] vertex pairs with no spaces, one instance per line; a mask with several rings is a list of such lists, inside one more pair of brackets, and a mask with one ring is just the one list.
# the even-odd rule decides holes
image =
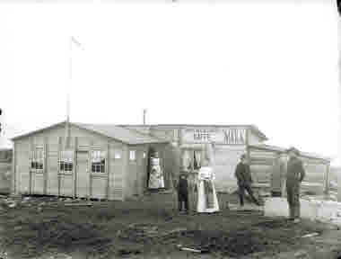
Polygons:
[[[47,138],[49,137],[49,138]],[[121,143],[109,141],[101,138],[70,138],[70,148],[74,150],[74,166],[73,174],[60,174],[59,172],[59,156],[63,150],[65,139],[57,137],[55,134],[34,136],[33,138],[22,138],[15,141],[15,167],[14,174],[15,183],[13,190],[18,193],[31,194],[48,194],[60,195],[67,197],[77,196],[77,186],[79,181],[83,181],[82,177],[88,175],[87,183],[84,180],[84,188],[88,188],[87,196],[98,199],[123,200],[124,199],[124,170],[127,169],[127,149]],[[30,173],[31,169],[31,150],[36,146],[44,147],[45,161],[44,171],[41,173]],[[90,174],[90,151],[101,149],[106,152],[106,173]],[[85,152],[87,165],[86,172],[77,172],[77,153]],[[116,153],[120,153],[120,158],[115,158]],[[126,166],[126,167],[125,167]],[[83,166],[84,168],[84,166]],[[82,169],[83,170],[83,169]],[[78,178],[77,178],[78,177]]]

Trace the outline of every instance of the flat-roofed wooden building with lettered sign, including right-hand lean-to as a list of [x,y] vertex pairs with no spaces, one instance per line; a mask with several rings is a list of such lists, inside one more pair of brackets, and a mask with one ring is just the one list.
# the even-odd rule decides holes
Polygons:
[[[249,156],[254,187],[279,191],[284,187],[283,177],[276,165],[287,162],[285,148],[268,146],[266,135],[254,125],[121,125],[144,134],[166,138],[179,147],[182,167],[197,170],[205,143],[214,144],[214,172],[218,192],[237,189],[234,170],[241,154]],[[310,153],[301,153],[307,175],[303,186],[315,192],[328,192],[330,159]],[[176,169],[174,169],[176,171]],[[282,175],[284,176],[284,175]]]

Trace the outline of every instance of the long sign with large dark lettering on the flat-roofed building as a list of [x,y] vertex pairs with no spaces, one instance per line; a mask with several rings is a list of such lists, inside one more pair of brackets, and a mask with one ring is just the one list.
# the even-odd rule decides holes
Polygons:
[[246,144],[246,129],[184,129],[184,143],[210,143],[244,145]]

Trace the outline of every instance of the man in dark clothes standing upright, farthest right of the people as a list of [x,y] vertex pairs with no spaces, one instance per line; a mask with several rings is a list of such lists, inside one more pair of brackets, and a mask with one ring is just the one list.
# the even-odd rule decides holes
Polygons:
[[289,161],[286,172],[286,193],[289,204],[289,220],[300,222],[300,186],[305,176],[302,161],[298,158],[300,151],[294,147],[287,150]]

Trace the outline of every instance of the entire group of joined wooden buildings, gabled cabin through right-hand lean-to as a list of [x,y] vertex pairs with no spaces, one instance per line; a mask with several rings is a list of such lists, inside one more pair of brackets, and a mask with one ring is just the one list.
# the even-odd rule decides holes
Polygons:
[[[13,193],[123,201],[147,190],[150,147],[162,158],[167,189],[171,176],[200,167],[206,143],[214,146],[218,192],[236,191],[234,170],[242,154],[249,156],[255,188],[283,185],[276,168],[286,165],[285,150],[266,145],[254,125],[67,125],[13,138]],[[328,192],[330,160],[307,153],[302,159],[307,183]]]

